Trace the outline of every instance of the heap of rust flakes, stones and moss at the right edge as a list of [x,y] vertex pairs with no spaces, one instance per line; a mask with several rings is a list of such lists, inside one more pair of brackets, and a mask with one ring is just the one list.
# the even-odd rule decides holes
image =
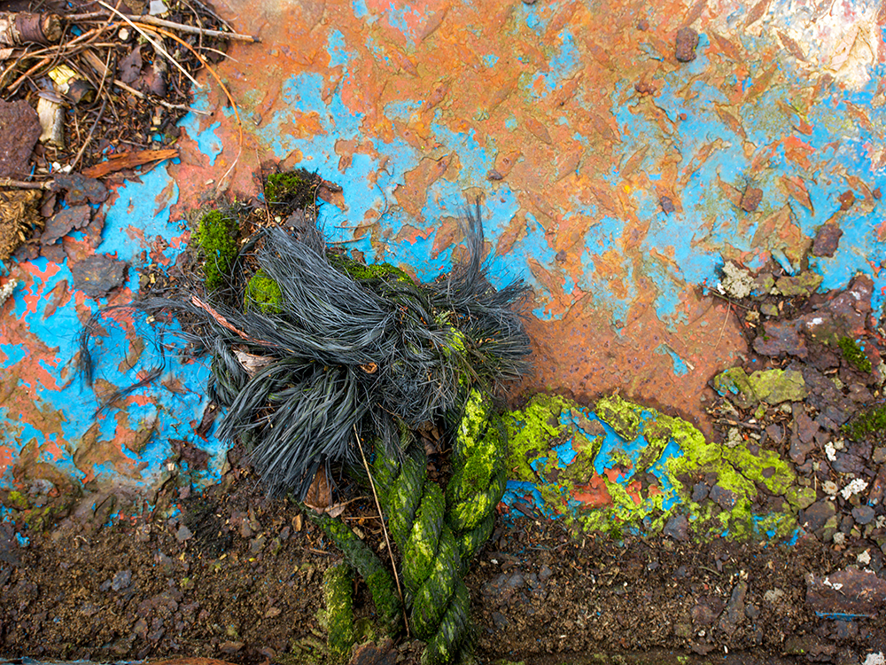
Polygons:
[[821,277],[727,266],[721,288],[752,354],[717,375],[717,434],[776,450],[797,475],[799,526],[851,563],[883,569],[886,548],[884,321],[864,275],[817,293]]

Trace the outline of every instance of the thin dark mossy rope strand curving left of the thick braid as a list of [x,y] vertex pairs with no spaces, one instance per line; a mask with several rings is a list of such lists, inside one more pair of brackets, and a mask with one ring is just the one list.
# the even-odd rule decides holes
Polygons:
[[307,511],[307,515],[338,545],[346,561],[366,582],[369,593],[372,594],[372,601],[376,604],[378,621],[382,629],[389,635],[396,635],[400,631],[400,597],[391,574],[376,553],[372,552],[343,521],[314,511]]

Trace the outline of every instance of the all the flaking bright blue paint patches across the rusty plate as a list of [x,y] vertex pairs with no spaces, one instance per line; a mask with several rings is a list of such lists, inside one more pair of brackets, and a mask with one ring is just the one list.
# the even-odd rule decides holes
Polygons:
[[[775,3],[773,12],[777,13],[783,4]],[[531,99],[532,104],[540,108],[583,68],[596,66],[582,60],[577,43],[587,35],[580,32],[580,27],[565,25],[556,30],[556,35],[548,36],[552,22],[567,5],[563,0],[532,6],[517,4],[514,9],[518,26],[525,26],[532,34],[547,40],[540,46],[544,62],[537,71],[521,73],[515,93]],[[415,20],[413,9],[390,4],[390,11],[382,18],[375,9],[370,10],[366,2],[354,0],[352,10],[368,26],[376,27],[385,22],[404,35],[407,46],[416,45],[418,26],[422,21]],[[331,27],[325,39],[328,69],[340,69],[346,82],[354,75],[355,59],[361,57],[355,51],[357,44],[349,42],[351,38],[338,27]],[[761,41],[764,37],[741,35],[736,38],[740,38],[750,52],[762,50],[764,45]],[[369,49],[379,58],[389,58],[375,36],[361,35],[359,39],[366,40]],[[496,137],[484,135],[477,128],[469,126],[464,129],[456,125],[441,108],[435,109],[426,123],[427,136],[422,140],[427,147],[410,145],[397,133],[383,139],[368,130],[367,114],[343,96],[342,85],[330,85],[327,75],[299,68],[296,73],[286,74],[280,82],[275,82],[280,86],[285,108],[267,118],[258,129],[250,130],[256,132],[256,141],[276,159],[288,159],[294,166],[316,170],[323,178],[342,185],[340,207],[323,206],[321,223],[331,240],[342,242],[352,251],[360,251],[368,262],[399,263],[423,280],[448,270],[452,247],[436,246],[440,239],[440,221],[460,215],[465,192],[486,192],[482,205],[491,246],[500,244],[515,220],[522,224],[507,254],[490,257],[491,277],[499,286],[511,278],[525,278],[536,292],[532,309],[536,317],[556,319],[564,316],[563,309],[556,305],[556,294],[550,293],[546,286],[548,282],[540,278],[536,270],[540,267],[555,277],[556,285],[563,293],[588,293],[588,302],[601,310],[601,316],[610,317],[609,323],[619,328],[641,293],[641,282],[648,280],[655,289],[652,304],[658,319],[673,329],[675,325],[688,323],[683,307],[688,289],[716,284],[725,256],[740,256],[747,265],[756,268],[771,254],[786,270],[796,269],[789,256],[795,248],[770,235],[755,240],[767,216],[775,215],[787,206],[791,223],[806,239],[811,239],[818,227],[835,215],[841,193],[847,189],[859,193],[857,187],[849,184],[851,177],[858,177],[871,190],[886,188],[883,168],[873,163],[875,146],[882,144],[882,127],[886,126],[884,106],[874,104],[886,66],[877,64],[872,67],[869,81],[858,90],[838,84],[826,86],[820,98],[812,100],[814,103],[790,111],[790,92],[808,88],[808,74],[785,60],[778,69],[781,79],[777,85],[762,90],[750,102],[737,105],[738,121],[745,135],[742,137],[717,112],[718,106],[732,104],[727,95],[731,88],[737,87],[748,93],[770,62],[751,60],[745,63],[747,75],[729,74],[718,87],[702,80],[702,74],[715,66],[715,59],[719,58],[709,55],[708,51],[713,48],[711,43],[710,36],[703,32],[698,58],[657,79],[658,94],[652,101],[641,99],[633,87],[634,81],[627,80],[609,90],[579,89],[576,93],[579,101],[588,105],[593,95],[602,94],[608,100],[618,138],[610,146],[614,153],[612,163],[624,167],[633,157],[638,160],[633,175],[626,175],[621,168],[594,173],[588,160],[579,160],[576,165],[575,173],[579,178],[595,177],[607,184],[611,192],[627,191],[626,196],[633,206],[630,213],[635,218],[610,213],[595,198],[582,198],[587,192],[581,191],[571,196],[568,206],[558,207],[555,215],[559,215],[564,224],[587,218],[586,228],[582,229],[578,239],[581,270],[569,271],[558,264],[554,244],[556,233],[546,232],[543,225],[546,222],[540,214],[526,206],[525,192],[515,191],[507,180],[491,183],[486,179],[506,146],[499,145]],[[650,60],[662,58],[651,42],[645,44],[643,50]],[[508,64],[505,58],[515,58],[523,64],[527,61],[522,53],[478,53],[480,66],[486,68]],[[457,90],[453,90],[450,97],[456,94]],[[426,101],[427,98],[401,98],[389,102],[382,108],[382,120],[411,121],[422,112]],[[662,119],[639,113],[641,105],[653,102],[663,114]],[[871,125],[866,127],[852,120],[847,103],[862,108],[869,115]],[[198,95],[194,106],[198,110],[208,110],[208,96]],[[681,113],[686,114],[685,120],[680,119]],[[303,119],[308,116],[319,125],[316,134],[304,136],[292,130],[301,127]],[[808,121],[811,126],[808,134],[797,129],[801,120]],[[205,121],[191,114],[181,124],[206,156],[207,163],[214,165],[222,150],[221,123],[214,121],[205,126]],[[570,136],[583,155],[602,150],[595,131],[579,123],[572,126],[565,114],[551,124],[549,129],[554,125],[569,126]],[[524,125],[522,115],[512,114],[504,121],[504,126],[511,131]],[[808,146],[811,166],[805,166],[796,155],[786,151],[784,141],[787,139],[798,139]],[[355,141],[364,149],[350,155],[349,162],[341,167],[338,144],[343,141]],[[750,144],[753,145],[748,148]],[[711,146],[714,148],[711,154],[700,163],[696,162],[696,156]],[[772,152],[769,166],[755,171],[753,160],[767,146]],[[300,160],[294,157],[298,154]],[[406,201],[400,200],[399,193],[399,188],[408,184],[408,174],[422,166],[425,160],[442,160],[447,155],[457,156],[457,172],[454,167],[447,170],[445,176],[434,180],[420,210],[408,212]],[[658,192],[656,188],[664,187],[665,182],[662,165],[677,156],[680,157],[676,186],[679,191]],[[639,182],[640,176],[642,182]],[[784,178],[804,183],[812,209],[802,205],[787,191]],[[156,237],[169,240],[182,234],[183,222],[170,214],[178,190],[167,168],[153,169],[142,177],[142,181],[121,186],[115,202],[105,207],[105,234],[98,252],[140,264],[146,260],[145,248],[127,230],[144,231],[148,244]],[[749,215],[735,207],[721,191],[720,181],[739,191],[748,184],[759,187],[763,191],[763,200],[758,212]],[[577,187],[583,184],[585,181],[579,181]],[[544,197],[546,188],[556,186],[553,182],[540,182],[541,196]],[[677,209],[671,214],[664,213],[659,199],[661,194],[676,199]],[[824,276],[823,288],[844,286],[852,274],[862,271],[874,278],[874,307],[882,306],[886,272],[876,274],[880,262],[886,259],[886,247],[878,239],[876,228],[882,216],[881,200],[857,204],[841,216],[844,235],[837,254],[832,258],[810,258],[812,269]],[[355,230],[370,225],[376,226],[377,230],[354,238]],[[648,226],[648,231],[635,252],[629,254],[623,244],[626,233],[633,226]],[[181,249],[181,246],[168,246],[163,255],[174,260]],[[601,268],[604,259],[611,260],[613,254],[618,259],[619,277],[623,282],[621,290]],[[669,260],[658,259],[659,254],[666,254]],[[40,273],[47,269],[45,261],[37,262],[36,266],[34,286],[19,287],[14,294],[12,312],[13,316],[26,320],[30,330],[48,347],[58,348],[58,362],[44,364],[43,369],[59,387],[36,385],[33,379],[22,379],[21,385],[33,389],[46,408],[64,416],[63,433],[68,441],[76,442],[93,422],[96,407],[94,397],[83,392],[74,379],[76,331],[81,320],[74,310],[74,301],[58,308],[51,317],[44,317],[47,306],[44,296],[60,281],[71,283],[71,274],[66,262],[58,266],[58,272],[44,277]],[[137,283],[136,271],[130,270],[128,288],[135,292]],[[26,296],[38,296],[35,309],[29,309]],[[89,311],[95,311],[100,304],[89,299],[85,301]],[[150,332],[148,328],[144,330]],[[103,342],[104,347],[125,351],[123,332],[112,330],[111,334]],[[171,336],[166,340],[171,341]],[[16,365],[29,353],[27,348],[12,344],[0,345],[0,350],[7,356],[4,363],[7,372],[15,372]],[[658,352],[669,356],[675,376],[685,376],[690,371],[687,361],[672,348],[661,346]],[[99,373],[120,386],[131,382],[138,371],[149,369],[159,359],[157,350],[149,345],[136,367],[120,372],[117,369],[119,358],[112,360],[109,356],[102,359]],[[201,363],[183,364],[171,351],[167,353],[167,363],[169,371],[183,382],[186,395],[172,394],[160,386],[148,387],[140,395],[149,397],[156,406],[131,403],[127,407],[132,422],[150,421],[154,417],[159,421],[159,430],[143,453],[128,458],[133,464],[146,463],[136,474],[136,484],[145,486],[155,483],[164,473],[163,463],[170,454],[167,440],[192,438],[192,423],[199,420],[206,406],[201,396],[205,392],[206,367]],[[52,442],[51,436],[45,436],[27,423],[17,422],[14,414],[3,413],[0,426],[12,433],[16,454],[30,442],[37,446]],[[593,414],[588,417],[593,418]],[[113,437],[113,427],[113,419],[103,420],[101,434]],[[617,448],[635,459],[644,445],[641,439],[625,444],[612,438],[615,435],[610,430],[608,433],[597,458],[598,472],[610,465],[610,455]],[[7,442],[12,439],[7,435]],[[208,473],[197,474],[198,480],[210,482],[217,479],[224,459],[221,445],[213,439],[195,444],[208,450],[213,460]],[[83,472],[74,465],[72,452],[67,451],[56,458],[54,464],[74,479],[82,480]],[[554,452],[563,464],[570,463],[570,450],[563,448]],[[679,454],[679,448],[672,443],[664,451],[664,458]],[[664,458],[655,465],[653,473],[662,481],[665,491],[669,491]],[[11,484],[11,473],[11,469],[7,469],[0,484]],[[99,464],[95,473],[113,479],[120,470]],[[632,474],[626,473],[620,481],[629,481]],[[513,485],[509,491],[530,490]],[[533,491],[537,496],[537,490]]]

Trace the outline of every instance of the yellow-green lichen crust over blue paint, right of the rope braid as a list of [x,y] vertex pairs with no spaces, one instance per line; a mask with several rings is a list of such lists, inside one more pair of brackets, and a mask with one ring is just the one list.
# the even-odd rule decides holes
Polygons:
[[[595,458],[599,454],[602,437],[588,438],[575,419],[563,419],[564,412],[573,413],[580,407],[556,396],[533,398],[525,409],[510,414],[509,477],[532,482],[549,511],[563,514],[569,522],[585,531],[603,531],[616,535],[626,526],[643,524],[644,531],[656,532],[664,527],[675,507],[665,511],[665,500],[678,497],[681,510],[688,508],[689,519],[696,525],[696,533],[703,538],[728,533],[729,537],[744,538],[760,532],[786,536],[796,528],[797,504],[805,503],[806,496],[797,492],[795,476],[790,465],[774,450],[748,449],[742,443],[727,448],[716,442],[707,442],[695,426],[683,419],[667,416],[654,409],[628,402],[618,396],[604,397],[595,406],[595,412],[607,423],[615,423],[625,444],[642,435],[646,445],[633,450],[622,450],[616,460],[626,468],[630,478],[613,480],[614,472],[595,474]],[[587,421],[587,419],[585,419]],[[615,427],[613,427],[615,428]],[[631,438],[628,439],[627,437]],[[558,443],[570,441],[577,454],[569,465],[557,458],[550,449]],[[680,455],[662,458],[665,447],[675,443]],[[616,449],[618,450],[618,449]],[[618,457],[618,455],[616,456]],[[612,454],[608,456],[612,462]],[[631,467],[635,465],[633,470]],[[647,485],[637,481],[653,468],[662,469],[671,489]],[[733,493],[734,505],[720,509],[712,501],[703,504],[691,501],[691,487],[686,479],[713,473],[722,489]],[[610,477],[611,476],[611,477]],[[681,480],[684,479],[684,480]],[[585,496],[589,486],[596,488],[596,497],[604,497],[602,506],[586,507],[571,499],[579,493]],[[755,514],[753,505],[758,496],[758,485],[766,487],[775,497],[785,497],[783,510]],[[608,497],[600,493],[605,487]],[[590,490],[587,490],[590,491]]]

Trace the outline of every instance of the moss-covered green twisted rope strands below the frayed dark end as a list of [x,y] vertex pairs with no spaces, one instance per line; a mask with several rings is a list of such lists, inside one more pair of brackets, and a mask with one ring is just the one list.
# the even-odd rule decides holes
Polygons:
[[[455,471],[446,495],[428,481],[427,456],[408,427],[400,426],[401,456],[385,453],[381,442],[376,442],[373,478],[388,528],[402,553],[409,624],[416,637],[426,642],[424,665],[458,661],[468,641],[470,593],[462,575],[493,530],[495,506],[505,485],[504,433],[489,398],[471,390],[456,432]],[[379,598],[396,596],[381,562],[341,521],[327,515],[312,519],[367,579],[379,615],[383,614]],[[358,563],[359,557],[365,560]],[[361,566],[368,565],[364,572]],[[386,581],[377,591],[369,575],[381,573]]]

